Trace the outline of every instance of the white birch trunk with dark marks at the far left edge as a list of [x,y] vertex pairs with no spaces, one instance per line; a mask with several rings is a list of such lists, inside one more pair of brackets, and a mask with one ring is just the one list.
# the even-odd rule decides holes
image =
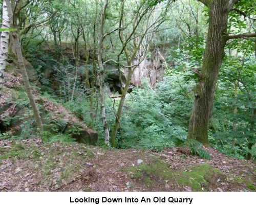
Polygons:
[[[10,29],[10,18],[8,16],[6,0],[3,0],[2,29]],[[5,75],[7,54],[8,54],[9,39],[10,39],[9,31],[3,31],[1,33],[1,42],[0,42],[0,52],[1,52],[0,53],[0,98],[1,98],[1,91],[4,84],[4,75]]]

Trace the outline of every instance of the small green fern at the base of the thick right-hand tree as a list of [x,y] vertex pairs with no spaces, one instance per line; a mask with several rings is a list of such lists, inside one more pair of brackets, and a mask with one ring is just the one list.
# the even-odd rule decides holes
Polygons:
[[204,159],[211,160],[210,155],[202,148],[202,146],[203,146],[202,143],[200,143],[196,140],[187,139],[185,142],[185,145],[187,145],[189,147],[191,153],[193,153],[199,157],[202,157]]

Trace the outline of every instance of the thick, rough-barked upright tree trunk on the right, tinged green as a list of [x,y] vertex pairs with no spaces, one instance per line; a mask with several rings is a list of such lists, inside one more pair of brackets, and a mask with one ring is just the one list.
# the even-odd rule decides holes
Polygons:
[[[206,1],[201,2],[205,3]],[[194,139],[205,145],[209,143],[208,122],[221,62],[225,56],[225,35],[230,2],[230,0],[207,1],[209,29],[203,55],[202,73],[199,74],[197,85],[194,88],[195,102],[188,128],[188,139]]]

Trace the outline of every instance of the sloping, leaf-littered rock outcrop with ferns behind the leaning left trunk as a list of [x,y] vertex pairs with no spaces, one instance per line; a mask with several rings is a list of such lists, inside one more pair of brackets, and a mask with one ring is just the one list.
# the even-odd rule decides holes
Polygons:
[[[8,80],[4,83],[3,95],[0,99],[0,133],[6,133],[10,137],[19,136],[26,125],[31,130],[28,133],[33,134],[36,131],[33,116],[26,109],[28,103],[21,99],[22,94],[17,91],[21,79],[8,73],[6,73],[6,77],[8,77]],[[46,130],[54,133],[70,134],[79,143],[96,145],[98,140],[96,131],[88,128],[86,124],[62,105],[38,97],[38,91],[36,90],[33,91],[33,94],[37,97],[37,104],[42,106],[40,116],[43,123],[46,124]],[[13,100],[24,103],[20,106],[20,103],[16,104]]]

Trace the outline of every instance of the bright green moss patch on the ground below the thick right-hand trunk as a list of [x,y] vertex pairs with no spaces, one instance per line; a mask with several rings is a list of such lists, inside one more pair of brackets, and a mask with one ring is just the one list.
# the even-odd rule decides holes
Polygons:
[[187,171],[175,171],[169,170],[169,165],[156,157],[152,157],[151,161],[151,164],[125,168],[124,171],[147,186],[167,180],[178,186],[188,186],[192,191],[209,191],[218,177],[223,176],[221,171],[207,164],[190,167]]

